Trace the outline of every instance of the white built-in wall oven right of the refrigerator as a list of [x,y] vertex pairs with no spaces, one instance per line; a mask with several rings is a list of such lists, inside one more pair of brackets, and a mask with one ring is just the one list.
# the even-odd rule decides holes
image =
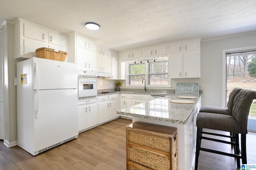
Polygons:
[[97,72],[78,70],[78,99],[96,98]]

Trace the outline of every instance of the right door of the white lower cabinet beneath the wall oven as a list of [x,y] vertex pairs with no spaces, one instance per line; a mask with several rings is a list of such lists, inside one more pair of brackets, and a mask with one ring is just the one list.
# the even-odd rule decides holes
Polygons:
[[87,106],[88,114],[87,114],[87,124],[88,127],[92,127],[99,123],[99,115],[96,103],[90,104]]

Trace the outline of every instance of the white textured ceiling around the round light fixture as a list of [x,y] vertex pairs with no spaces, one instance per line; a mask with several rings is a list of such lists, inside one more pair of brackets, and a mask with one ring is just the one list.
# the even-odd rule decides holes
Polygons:
[[256,31],[256,0],[0,0],[0,23],[16,18],[124,51]]

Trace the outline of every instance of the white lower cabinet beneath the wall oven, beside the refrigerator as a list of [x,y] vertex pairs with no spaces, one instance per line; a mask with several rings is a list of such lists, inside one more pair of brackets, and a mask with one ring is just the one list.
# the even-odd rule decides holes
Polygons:
[[78,131],[81,132],[98,124],[96,98],[78,100]]

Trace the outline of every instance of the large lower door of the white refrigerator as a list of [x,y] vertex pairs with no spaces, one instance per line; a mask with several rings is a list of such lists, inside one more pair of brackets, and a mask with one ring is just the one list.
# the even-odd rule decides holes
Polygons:
[[[34,151],[78,135],[77,90],[39,90],[38,118],[34,117]],[[35,108],[34,108],[35,109]]]

